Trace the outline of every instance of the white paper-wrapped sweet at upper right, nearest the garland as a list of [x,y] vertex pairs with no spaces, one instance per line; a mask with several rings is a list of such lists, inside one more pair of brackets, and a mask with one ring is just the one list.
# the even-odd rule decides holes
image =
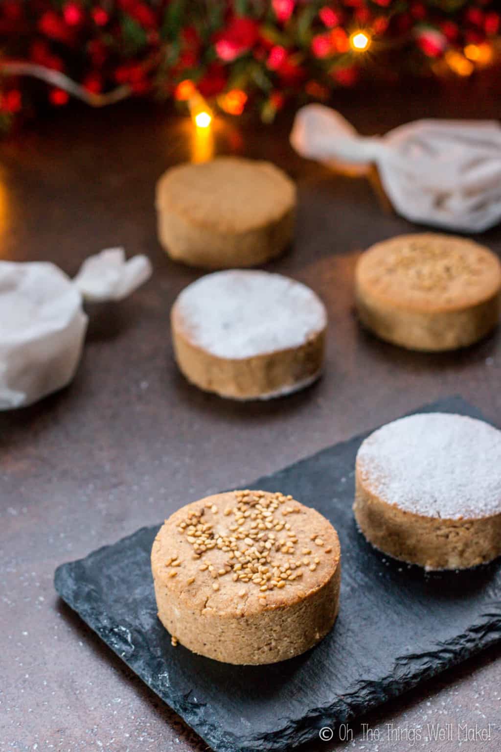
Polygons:
[[395,210],[413,222],[482,232],[501,220],[501,126],[491,120],[417,120],[364,138],[324,105],[297,112],[298,153],[361,173],[375,164]]

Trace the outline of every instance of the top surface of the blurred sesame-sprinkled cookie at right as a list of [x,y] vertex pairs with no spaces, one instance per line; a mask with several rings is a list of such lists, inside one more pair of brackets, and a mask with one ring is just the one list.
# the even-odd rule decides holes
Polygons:
[[399,235],[362,253],[358,293],[399,308],[443,311],[499,294],[501,263],[488,248],[454,235]]

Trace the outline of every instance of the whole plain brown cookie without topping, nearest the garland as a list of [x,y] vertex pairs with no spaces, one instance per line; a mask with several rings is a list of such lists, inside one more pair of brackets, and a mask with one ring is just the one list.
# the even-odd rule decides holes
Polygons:
[[291,242],[296,187],[271,162],[222,156],[165,172],[156,209],[171,258],[210,269],[255,266]]

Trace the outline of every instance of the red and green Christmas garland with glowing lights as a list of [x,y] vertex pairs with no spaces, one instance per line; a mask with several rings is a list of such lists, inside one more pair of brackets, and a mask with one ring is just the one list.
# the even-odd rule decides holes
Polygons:
[[497,0],[3,0],[0,123],[71,96],[190,100],[272,120],[289,99],[499,57]]

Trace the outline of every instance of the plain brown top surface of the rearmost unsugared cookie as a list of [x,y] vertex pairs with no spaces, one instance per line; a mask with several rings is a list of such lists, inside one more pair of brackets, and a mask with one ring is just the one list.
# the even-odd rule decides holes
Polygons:
[[271,162],[221,156],[183,164],[157,184],[158,211],[173,211],[215,232],[247,232],[276,222],[296,203],[293,181]]

